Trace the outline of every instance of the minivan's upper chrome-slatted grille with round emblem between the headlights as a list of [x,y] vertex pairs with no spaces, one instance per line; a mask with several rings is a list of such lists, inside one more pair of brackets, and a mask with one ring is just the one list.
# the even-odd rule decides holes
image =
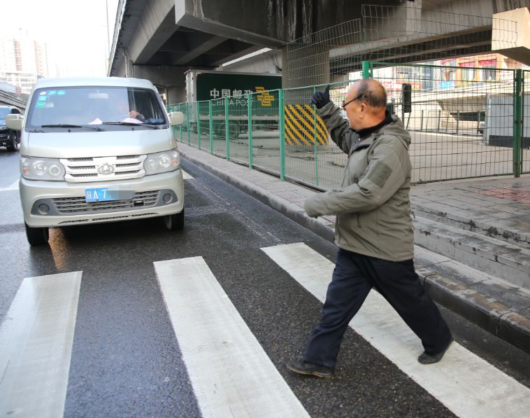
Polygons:
[[69,183],[140,179],[145,176],[143,162],[147,155],[117,157],[62,158]]

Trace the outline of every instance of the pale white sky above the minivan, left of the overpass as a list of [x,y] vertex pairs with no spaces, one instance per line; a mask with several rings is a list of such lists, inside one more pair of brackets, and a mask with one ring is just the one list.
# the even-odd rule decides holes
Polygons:
[[0,0],[0,31],[24,29],[45,41],[61,76],[106,76],[118,1]]

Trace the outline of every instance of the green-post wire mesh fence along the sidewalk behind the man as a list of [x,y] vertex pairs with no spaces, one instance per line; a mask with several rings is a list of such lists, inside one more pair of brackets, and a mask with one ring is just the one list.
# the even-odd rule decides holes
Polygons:
[[[413,183],[530,172],[530,71],[366,62],[331,83],[341,106],[350,85],[372,76],[410,132]],[[347,156],[329,139],[314,106],[324,85],[172,104],[178,141],[227,160],[317,188],[340,184]],[[343,115],[345,117],[345,114]]]

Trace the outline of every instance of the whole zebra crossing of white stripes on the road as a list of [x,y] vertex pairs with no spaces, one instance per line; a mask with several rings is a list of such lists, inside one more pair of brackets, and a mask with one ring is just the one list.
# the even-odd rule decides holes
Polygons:
[[[303,243],[262,251],[324,301],[331,261]],[[0,328],[0,416],[64,413],[82,276],[22,281]],[[308,416],[201,256],[155,261],[153,277],[203,417]],[[530,389],[456,342],[441,363],[417,363],[420,342],[378,293],[350,327],[459,417],[530,410]]]

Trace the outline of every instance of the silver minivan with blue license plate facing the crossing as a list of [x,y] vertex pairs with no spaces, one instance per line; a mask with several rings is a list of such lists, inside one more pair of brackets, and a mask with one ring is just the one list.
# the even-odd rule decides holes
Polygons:
[[48,228],[160,216],[184,226],[184,183],[173,126],[150,81],[137,78],[41,78],[24,118],[20,200],[29,244]]

